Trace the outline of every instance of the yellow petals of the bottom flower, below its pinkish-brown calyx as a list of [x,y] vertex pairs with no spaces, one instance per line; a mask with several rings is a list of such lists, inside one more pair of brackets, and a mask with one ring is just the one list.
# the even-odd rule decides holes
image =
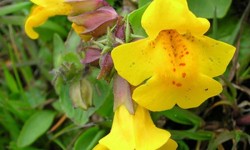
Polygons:
[[[162,147],[162,148],[161,148]],[[124,105],[115,111],[111,132],[99,141],[94,150],[156,150],[177,148],[168,131],[156,128],[149,112],[137,106],[131,115]]]

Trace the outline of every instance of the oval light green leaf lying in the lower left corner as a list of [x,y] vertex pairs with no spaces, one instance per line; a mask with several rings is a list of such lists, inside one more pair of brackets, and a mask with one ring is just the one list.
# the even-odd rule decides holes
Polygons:
[[24,124],[17,140],[18,147],[26,147],[36,141],[51,126],[55,113],[52,111],[38,111]]

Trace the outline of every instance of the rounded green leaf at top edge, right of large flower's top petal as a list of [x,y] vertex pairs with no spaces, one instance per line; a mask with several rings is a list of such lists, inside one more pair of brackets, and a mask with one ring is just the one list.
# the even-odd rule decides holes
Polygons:
[[187,0],[190,10],[199,17],[223,18],[229,10],[232,0]]

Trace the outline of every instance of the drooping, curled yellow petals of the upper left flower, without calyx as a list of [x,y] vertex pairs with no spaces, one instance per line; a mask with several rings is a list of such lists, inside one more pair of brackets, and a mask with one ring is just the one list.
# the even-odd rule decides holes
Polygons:
[[32,39],[38,38],[35,27],[42,25],[49,17],[55,15],[68,15],[71,13],[72,6],[64,3],[64,0],[31,0],[36,6],[33,7],[31,14],[25,22],[25,32]]

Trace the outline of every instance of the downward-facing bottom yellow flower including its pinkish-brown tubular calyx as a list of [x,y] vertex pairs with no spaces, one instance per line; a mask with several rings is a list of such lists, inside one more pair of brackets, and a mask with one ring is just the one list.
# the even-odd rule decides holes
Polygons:
[[170,133],[157,128],[147,109],[134,104],[129,83],[115,74],[115,116],[110,133],[99,141],[94,150],[169,150],[177,148]]

